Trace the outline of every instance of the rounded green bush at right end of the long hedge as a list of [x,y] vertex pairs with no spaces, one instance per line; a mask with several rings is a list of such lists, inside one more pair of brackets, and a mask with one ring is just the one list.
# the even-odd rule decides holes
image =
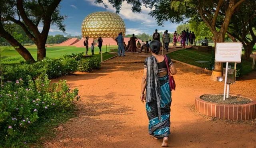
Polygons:
[[100,65],[99,58],[82,59],[78,62],[78,71],[92,71],[92,69],[99,69]]

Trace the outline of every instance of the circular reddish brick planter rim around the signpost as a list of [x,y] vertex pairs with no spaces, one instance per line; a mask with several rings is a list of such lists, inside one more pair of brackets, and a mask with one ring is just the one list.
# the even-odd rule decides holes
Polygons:
[[250,120],[256,118],[256,99],[244,95],[230,95],[248,98],[252,102],[243,105],[218,104],[204,101],[198,96],[195,99],[195,109],[202,114],[221,119]]

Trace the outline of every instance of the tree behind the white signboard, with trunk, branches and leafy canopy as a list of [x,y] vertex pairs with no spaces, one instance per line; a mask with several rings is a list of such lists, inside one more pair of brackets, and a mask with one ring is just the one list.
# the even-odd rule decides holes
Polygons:
[[[216,42],[224,42],[228,26],[234,12],[245,0],[158,0],[150,15],[162,25],[165,20],[182,22],[186,18],[198,17],[211,30]],[[166,5],[167,4],[167,5]],[[167,6],[167,7],[166,7]],[[174,13],[176,12],[176,13]],[[224,17],[222,17],[224,16]],[[182,18],[182,19],[181,19]],[[160,20],[162,19],[162,20]],[[221,22],[217,30],[216,22]],[[222,75],[222,63],[214,64],[212,80]]]

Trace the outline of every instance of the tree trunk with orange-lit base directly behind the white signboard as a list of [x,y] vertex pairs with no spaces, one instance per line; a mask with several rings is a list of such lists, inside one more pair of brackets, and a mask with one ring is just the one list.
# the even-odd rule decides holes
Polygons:
[[[224,42],[225,34],[226,33],[223,33],[223,32],[216,32],[214,34],[214,37],[215,37],[215,53],[216,53],[216,43]],[[222,63],[220,63],[220,62],[215,62],[214,63],[214,71],[212,71],[212,77],[211,77],[211,79],[213,81],[217,81],[217,77],[222,76],[222,69],[223,69],[223,64]]]

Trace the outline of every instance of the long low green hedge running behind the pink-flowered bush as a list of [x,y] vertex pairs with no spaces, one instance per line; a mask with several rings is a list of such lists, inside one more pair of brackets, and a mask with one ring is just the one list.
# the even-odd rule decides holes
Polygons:
[[35,78],[48,75],[50,79],[68,75],[75,71],[91,71],[100,68],[99,58],[83,59],[83,53],[64,55],[59,59],[45,58],[36,63],[22,62],[20,64],[4,65],[4,78],[9,81],[16,81],[17,78],[27,80],[27,75]]

